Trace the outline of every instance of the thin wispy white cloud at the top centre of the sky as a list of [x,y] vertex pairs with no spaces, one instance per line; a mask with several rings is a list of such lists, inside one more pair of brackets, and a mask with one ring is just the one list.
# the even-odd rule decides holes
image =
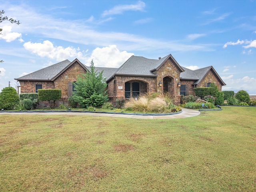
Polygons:
[[145,5],[144,2],[139,1],[137,4],[114,6],[114,8],[104,11],[102,16],[122,14],[125,11],[143,11]]

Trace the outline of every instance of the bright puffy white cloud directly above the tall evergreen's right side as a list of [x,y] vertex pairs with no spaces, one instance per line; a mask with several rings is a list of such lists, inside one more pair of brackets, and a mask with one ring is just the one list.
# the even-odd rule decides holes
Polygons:
[[132,55],[134,54],[118,50],[116,45],[96,48],[92,51],[90,58],[87,59],[86,65],[89,66],[91,60],[93,59],[96,67],[118,68]]

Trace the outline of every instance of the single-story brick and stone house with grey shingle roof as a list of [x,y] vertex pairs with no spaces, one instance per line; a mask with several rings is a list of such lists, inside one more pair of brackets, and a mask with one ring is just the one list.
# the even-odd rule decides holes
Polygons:
[[[95,67],[102,71],[108,84],[108,97],[113,104],[116,98],[138,97],[147,92],[169,92],[175,104],[180,103],[180,94],[194,95],[194,88],[215,83],[219,90],[226,85],[212,66],[189,70],[176,62],[171,54],[164,58],[148,59],[131,56],[119,68]],[[20,78],[21,93],[34,93],[38,89],[61,89],[62,101],[72,95],[77,75],[90,72],[90,68],[78,59],[64,60]]]

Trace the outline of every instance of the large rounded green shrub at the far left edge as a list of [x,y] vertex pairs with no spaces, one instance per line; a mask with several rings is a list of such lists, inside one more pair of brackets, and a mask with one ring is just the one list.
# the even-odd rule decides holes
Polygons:
[[16,89],[13,87],[6,87],[0,93],[0,109],[12,110],[14,105],[20,101]]

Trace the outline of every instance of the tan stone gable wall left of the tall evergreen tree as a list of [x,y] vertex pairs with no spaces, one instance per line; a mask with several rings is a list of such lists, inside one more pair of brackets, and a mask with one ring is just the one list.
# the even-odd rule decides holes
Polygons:
[[81,73],[86,73],[86,70],[75,62],[54,80],[55,88],[61,90],[62,97],[68,96],[68,82],[76,82],[77,75]]

